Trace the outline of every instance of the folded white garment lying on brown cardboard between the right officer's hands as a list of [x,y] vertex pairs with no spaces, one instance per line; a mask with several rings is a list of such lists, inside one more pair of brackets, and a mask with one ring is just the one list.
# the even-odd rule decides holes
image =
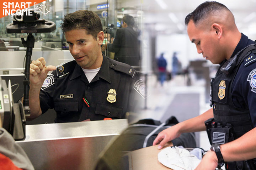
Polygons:
[[167,147],[158,153],[158,161],[173,170],[194,170],[201,162],[187,149]]

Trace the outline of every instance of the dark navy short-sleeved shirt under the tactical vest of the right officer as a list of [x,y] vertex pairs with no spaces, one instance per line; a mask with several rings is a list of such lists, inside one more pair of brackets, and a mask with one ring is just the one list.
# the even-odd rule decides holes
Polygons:
[[[232,56],[250,44],[254,44],[254,41],[248,39],[246,35],[242,34]],[[256,127],[256,92],[252,91],[253,86],[248,80],[248,75],[256,68],[256,60],[254,60],[256,57],[254,56],[250,58],[250,56],[254,56],[254,54],[246,57],[245,61],[242,62],[238,69],[232,84],[231,98],[234,106],[250,110],[252,123],[254,124],[254,127]],[[250,59],[247,60],[247,58]]]

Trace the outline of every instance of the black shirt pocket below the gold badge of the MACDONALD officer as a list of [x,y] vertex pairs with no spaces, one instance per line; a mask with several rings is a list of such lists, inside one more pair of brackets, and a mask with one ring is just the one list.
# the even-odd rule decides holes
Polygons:
[[95,114],[104,115],[108,118],[122,119],[123,108],[113,107],[103,103],[97,103]]

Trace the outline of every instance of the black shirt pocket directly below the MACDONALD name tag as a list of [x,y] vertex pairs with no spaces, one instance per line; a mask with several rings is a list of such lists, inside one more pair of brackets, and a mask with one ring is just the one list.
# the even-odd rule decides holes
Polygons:
[[57,101],[54,102],[54,110],[56,112],[68,113],[68,112],[78,112],[78,102],[76,101]]

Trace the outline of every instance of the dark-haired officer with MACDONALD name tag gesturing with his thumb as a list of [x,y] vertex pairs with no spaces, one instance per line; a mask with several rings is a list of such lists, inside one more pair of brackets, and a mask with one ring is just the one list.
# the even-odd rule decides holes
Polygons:
[[64,16],[62,29],[75,61],[57,69],[46,67],[44,58],[32,61],[31,118],[49,108],[57,112],[56,123],[126,118],[139,97],[146,96],[145,84],[131,66],[101,53],[100,18],[91,11],[76,11]]

